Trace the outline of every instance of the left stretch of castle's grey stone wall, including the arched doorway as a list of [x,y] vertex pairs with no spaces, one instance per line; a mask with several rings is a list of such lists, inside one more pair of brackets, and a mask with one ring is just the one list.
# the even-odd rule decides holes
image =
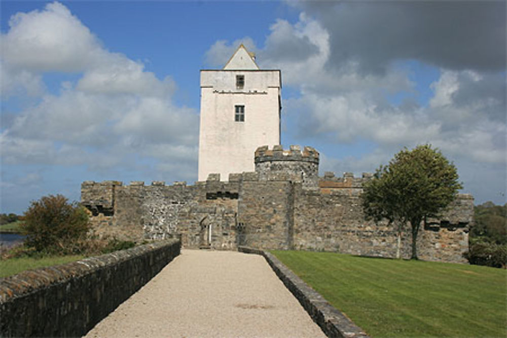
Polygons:
[[[93,232],[100,237],[137,242],[178,238],[183,246],[190,248],[235,249],[238,178],[235,182],[220,182],[220,177],[215,178],[191,186],[186,182],[165,185],[155,181],[147,186],[143,182],[130,185],[116,182],[114,193],[106,195],[115,197],[111,203],[114,210],[108,215],[92,216]],[[103,186],[109,182],[83,183],[82,204],[88,209],[101,209],[93,206],[94,201],[104,204],[108,201],[94,194],[108,191]]]

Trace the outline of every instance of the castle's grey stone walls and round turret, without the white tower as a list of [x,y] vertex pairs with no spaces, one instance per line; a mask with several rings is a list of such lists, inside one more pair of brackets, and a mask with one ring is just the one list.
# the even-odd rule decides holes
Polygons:
[[[394,257],[396,231],[365,220],[360,194],[371,174],[318,176],[319,154],[312,147],[259,147],[255,172],[230,174],[220,181],[187,185],[175,182],[85,181],[82,204],[99,236],[120,239],[180,238],[188,248],[335,251]],[[457,199],[438,219],[427,219],[418,236],[418,256],[425,260],[466,262],[468,228],[474,200]],[[410,257],[411,235],[403,232],[401,253]]]

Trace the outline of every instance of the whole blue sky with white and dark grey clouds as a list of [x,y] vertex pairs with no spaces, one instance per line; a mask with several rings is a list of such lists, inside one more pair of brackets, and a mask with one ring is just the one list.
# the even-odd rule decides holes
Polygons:
[[505,203],[506,2],[10,2],[0,209],[85,180],[197,180],[199,70],[239,44],[281,69],[281,141],[320,174],[432,144],[461,192]]

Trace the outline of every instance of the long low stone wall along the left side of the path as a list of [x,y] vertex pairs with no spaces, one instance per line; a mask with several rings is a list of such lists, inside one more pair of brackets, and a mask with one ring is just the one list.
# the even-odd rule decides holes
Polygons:
[[161,241],[3,278],[0,335],[82,336],[179,250],[179,241]]

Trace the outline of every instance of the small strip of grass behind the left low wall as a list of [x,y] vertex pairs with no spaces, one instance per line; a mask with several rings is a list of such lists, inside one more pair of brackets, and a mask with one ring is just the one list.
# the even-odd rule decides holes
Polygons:
[[64,264],[71,261],[83,259],[83,255],[70,256],[52,256],[43,258],[22,257],[0,260],[0,277],[7,277],[19,274],[25,270],[37,269],[42,267],[51,267],[53,265]]

